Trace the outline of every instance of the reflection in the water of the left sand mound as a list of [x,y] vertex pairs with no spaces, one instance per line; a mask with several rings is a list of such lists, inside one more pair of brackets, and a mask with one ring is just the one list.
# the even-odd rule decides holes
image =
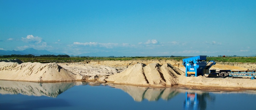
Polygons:
[[3,81],[0,80],[1,94],[23,94],[34,96],[57,97],[67,89],[76,85],[76,82],[21,82],[21,81]]

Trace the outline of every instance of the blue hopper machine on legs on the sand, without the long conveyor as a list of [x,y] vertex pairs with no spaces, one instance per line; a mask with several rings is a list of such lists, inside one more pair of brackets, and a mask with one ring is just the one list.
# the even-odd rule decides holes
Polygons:
[[199,76],[209,74],[209,68],[215,65],[214,61],[206,62],[206,56],[195,56],[183,59],[183,65],[186,68],[186,76]]

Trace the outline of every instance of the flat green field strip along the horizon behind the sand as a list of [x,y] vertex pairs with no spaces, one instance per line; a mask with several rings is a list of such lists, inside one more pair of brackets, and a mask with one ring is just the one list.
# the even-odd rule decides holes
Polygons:
[[[17,58],[23,62],[41,62],[41,63],[49,63],[49,62],[81,62],[84,60],[170,60],[175,59],[178,61],[182,61],[183,58],[187,57],[70,57],[70,58]],[[0,59],[15,59],[15,58],[0,58]],[[241,62],[241,63],[256,63],[256,57],[207,57],[207,61],[214,60],[215,62]]]

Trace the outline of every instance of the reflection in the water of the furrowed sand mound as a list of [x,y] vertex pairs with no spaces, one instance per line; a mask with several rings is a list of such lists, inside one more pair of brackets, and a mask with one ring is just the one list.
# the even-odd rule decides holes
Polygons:
[[147,88],[131,85],[115,85],[112,87],[122,89],[124,92],[132,96],[133,100],[135,101],[142,101],[143,99],[147,99],[149,101],[157,101],[160,98],[164,100],[170,100],[179,94],[178,89],[176,88]]

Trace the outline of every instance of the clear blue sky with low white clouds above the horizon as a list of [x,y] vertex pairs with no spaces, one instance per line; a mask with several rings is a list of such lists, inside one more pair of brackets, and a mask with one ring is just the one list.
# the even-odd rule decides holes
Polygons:
[[0,50],[255,55],[255,0],[0,0]]

